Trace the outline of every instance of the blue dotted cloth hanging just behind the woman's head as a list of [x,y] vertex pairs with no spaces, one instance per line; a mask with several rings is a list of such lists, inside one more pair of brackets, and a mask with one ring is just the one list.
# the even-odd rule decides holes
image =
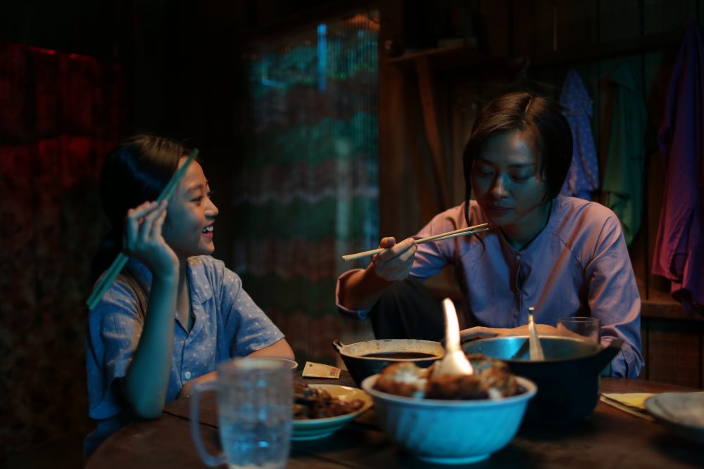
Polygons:
[[560,93],[562,113],[572,130],[572,164],[562,186],[562,195],[591,200],[599,188],[599,163],[591,132],[592,101],[576,70],[567,72]]

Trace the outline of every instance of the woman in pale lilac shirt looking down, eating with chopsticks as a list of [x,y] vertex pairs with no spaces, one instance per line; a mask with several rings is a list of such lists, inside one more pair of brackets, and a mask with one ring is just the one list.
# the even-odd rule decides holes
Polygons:
[[[529,307],[543,334],[554,334],[562,316],[593,316],[604,344],[624,341],[610,374],[635,378],[641,303],[620,222],[598,203],[559,195],[571,159],[570,127],[555,105],[522,91],[496,98],[465,147],[465,203],[413,238],[383,238],[386,250],[367,269],[339,277],[339,310],[363,318],[392,283],[425,280],[451,264],[473,326],[463,338],[525,335]],[[415,245],[481,223],[489,231]]]

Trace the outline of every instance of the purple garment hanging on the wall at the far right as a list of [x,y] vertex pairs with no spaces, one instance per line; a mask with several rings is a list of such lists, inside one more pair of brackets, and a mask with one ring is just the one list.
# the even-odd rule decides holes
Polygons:
[[704,304],[703,59],[702,38],[696,20],[690,20],[658,132],[665,191],[652,268],[653,274],[672,281],[672,295],[687,307],[692,300]]

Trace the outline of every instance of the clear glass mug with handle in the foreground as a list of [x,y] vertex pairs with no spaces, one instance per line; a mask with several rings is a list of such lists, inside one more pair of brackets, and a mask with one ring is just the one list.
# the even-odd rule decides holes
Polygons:
[[[284,361],[234,359],[218,366],[218,379],[196,383],[191,435],[203,462],[236,468],[284,468],[291,446],[293,373]],[[199,426],[200,393],[215,390],[222,453],[206,451]]]

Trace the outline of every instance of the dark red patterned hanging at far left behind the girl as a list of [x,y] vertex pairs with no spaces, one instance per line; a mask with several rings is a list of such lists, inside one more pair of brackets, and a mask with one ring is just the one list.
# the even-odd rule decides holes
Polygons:
[[117,65],[0,43],[1,452],[89,429],[84,302],[123,109]]

